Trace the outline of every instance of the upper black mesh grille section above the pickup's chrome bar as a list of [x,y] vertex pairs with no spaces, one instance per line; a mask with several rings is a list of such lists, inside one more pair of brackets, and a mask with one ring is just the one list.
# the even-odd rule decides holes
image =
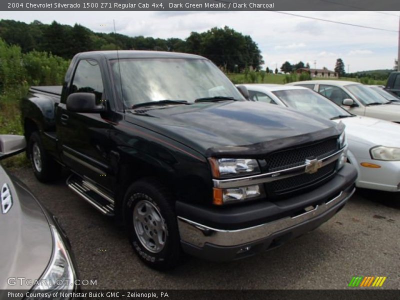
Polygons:
[[321,159],[338,150],[336,138],[311,145],[282,150],[265,158],[267,172],[274,172],[304,164],[305,159]]

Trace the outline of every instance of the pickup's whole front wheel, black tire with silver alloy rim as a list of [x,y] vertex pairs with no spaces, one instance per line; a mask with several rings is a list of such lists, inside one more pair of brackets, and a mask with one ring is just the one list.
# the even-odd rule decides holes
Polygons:
[[152,180],[133,183],[125,194],[125,226],[136,254],[148,266],[166,270],[180,258],[180,238],[168,191]]

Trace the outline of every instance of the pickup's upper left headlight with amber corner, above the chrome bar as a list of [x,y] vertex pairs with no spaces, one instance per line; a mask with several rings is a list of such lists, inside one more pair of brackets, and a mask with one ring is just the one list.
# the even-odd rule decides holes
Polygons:
[[246,176],[260,173],[258,162],[255,159],[211,157],[208,160],[214,178]]

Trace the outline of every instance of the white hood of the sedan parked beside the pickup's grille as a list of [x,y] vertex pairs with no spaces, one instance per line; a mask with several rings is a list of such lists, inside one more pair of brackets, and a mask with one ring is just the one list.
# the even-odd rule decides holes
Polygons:
[[350,148],[351,140],[361,139],[368,146],[400,147],[400,124],[366,116],[346,117],[335,121],[342,121],[346,125]]

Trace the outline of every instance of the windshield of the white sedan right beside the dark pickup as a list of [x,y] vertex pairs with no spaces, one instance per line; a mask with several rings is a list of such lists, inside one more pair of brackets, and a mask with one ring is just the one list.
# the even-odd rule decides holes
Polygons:
[[284,104],[303,112],[326,118],[352,116],[345,109],[310,89],[285,89],[272,91]]

